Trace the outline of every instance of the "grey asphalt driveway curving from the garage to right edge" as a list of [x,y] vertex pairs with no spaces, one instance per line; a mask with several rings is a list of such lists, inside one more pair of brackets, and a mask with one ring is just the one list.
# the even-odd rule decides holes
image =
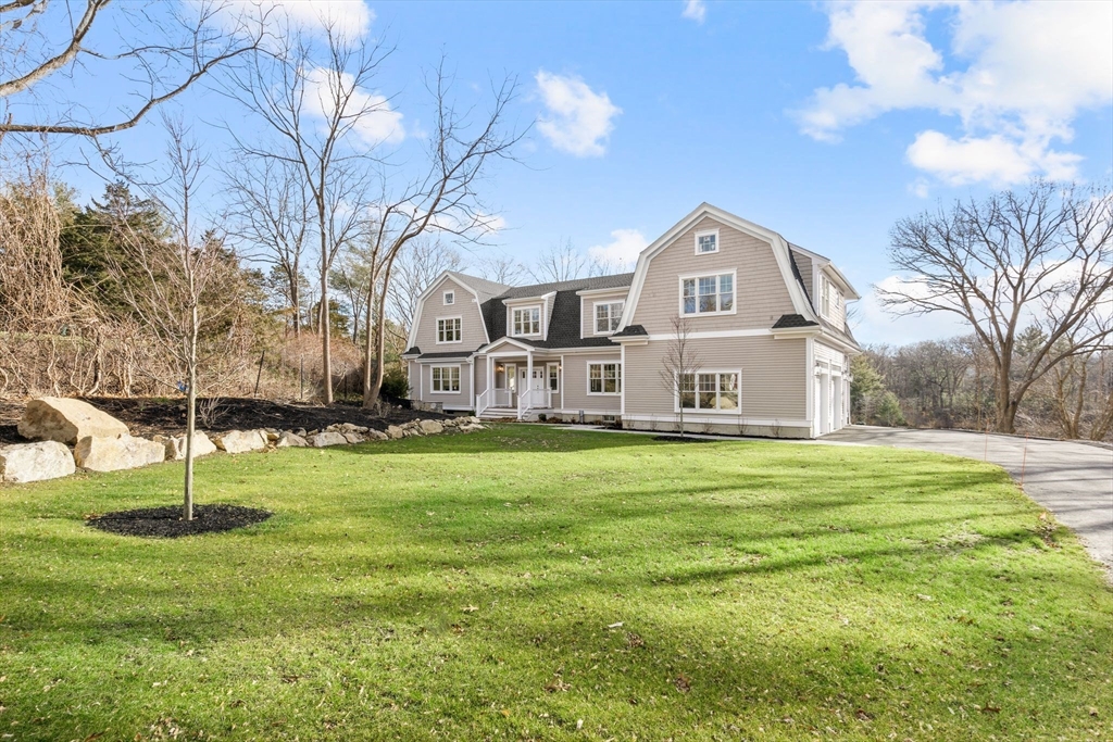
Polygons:
[[987,459],[1017,482],[1023,467],[1024,492],[1078,534],[1094,558],[1113,568],[1113,449],[1065,441],[1025,442],[1008,435],[865,425],[845,427],[820,442],[917,448]]

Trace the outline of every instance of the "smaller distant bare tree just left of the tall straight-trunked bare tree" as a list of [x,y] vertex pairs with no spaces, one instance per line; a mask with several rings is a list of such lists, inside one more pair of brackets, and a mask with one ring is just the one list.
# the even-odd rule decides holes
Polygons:
[[225,168],[233,199],[232,236],[282,277],[294,337],[302,336],[302,268],[312,214],[302,172],[279,158],[239,157]]

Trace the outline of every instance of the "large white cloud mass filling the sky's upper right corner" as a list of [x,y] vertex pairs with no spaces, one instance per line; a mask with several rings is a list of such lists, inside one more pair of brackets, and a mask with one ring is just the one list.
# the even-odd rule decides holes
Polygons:
[[[892,110],[954,116],[959,136],[922,131],[907,151],[948,184],[1075,177],[1081,158],[1052,142],[1113,100],[1113,3],[859,1],[827,12],[826,48],[843,50],[857,79],[817,89],[797,112],[801,130],[833,141]],[[927,40],[929,13],[947,16],[949,49]]]

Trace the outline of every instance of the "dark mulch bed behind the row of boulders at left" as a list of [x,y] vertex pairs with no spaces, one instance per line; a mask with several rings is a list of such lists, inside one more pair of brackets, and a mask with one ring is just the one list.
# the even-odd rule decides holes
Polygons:
[[[131,435],[149,438],[152,435],[181,435],[186,431],[186,405],[183,399],[88,397],[93,407],[116,417],[131,431]],[[204,400],[198,399],[198,409]],[[27,443],[16,425],[23,415],[23,402],[0,400],[0,445]],[[250,397],[219,397],[209,419],[198,417],[198,429],[220,433],[270,427],[279,431],[319,431],[334,423],[352,423],[376,431],[388,425],[402,425],[412,419],[440,419],[446,415],[421,413],[384,405],[382,414],[351,403],[329,406],[272,402]]]

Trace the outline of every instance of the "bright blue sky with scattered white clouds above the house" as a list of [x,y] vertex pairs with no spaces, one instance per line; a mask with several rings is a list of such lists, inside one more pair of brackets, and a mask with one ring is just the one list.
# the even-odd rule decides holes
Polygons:
[[[421,70],[442,51],[462,100],[518,77],[514,120],[533,128],[522,164],[483,186],[505,222],[494,249],[529,261],[569,239],[630,257],[709,201],[831,257],[866,297],[865,343],[961,330],[869,297],[892,280],[896,219],[1034,176],[1113,176],[1113,3],[267,2],[396,44],[368,92],[391,97],[384,147],[402,152],[420,145]],[[109,106],[118,85],[92,77],[80,95]],[[203,88],[174,107],[217,158],[214,125],[242,121]],[[149,154],[158,136],[150,122],[116,142]]]

